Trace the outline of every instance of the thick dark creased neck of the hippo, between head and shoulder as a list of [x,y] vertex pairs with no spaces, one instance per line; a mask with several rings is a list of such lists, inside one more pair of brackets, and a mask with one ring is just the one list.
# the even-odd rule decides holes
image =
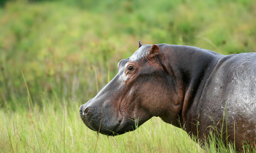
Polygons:
[[191,104],[200,98],[207,78],[223,55],[191,46],[159,44],[159,47],[162,50],[159,60],[175,79],[174,94],[177,95],[172,101],[177,106],[176,118],[162,117],[162,120],[181,127],[187,122],[186,113]]

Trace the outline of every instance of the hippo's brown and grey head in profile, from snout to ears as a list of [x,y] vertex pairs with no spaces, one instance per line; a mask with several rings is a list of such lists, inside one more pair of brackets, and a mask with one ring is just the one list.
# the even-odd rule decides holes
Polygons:
[[113,80],[80,106],[84,124],[109,136],[133,131],[153,116],[178,126],[182,105],[175,101],[179,91],[174,89],[169,65],[162,64],[161,54],[165,53],[159,46],[139,41],[139,49],[118,63]]

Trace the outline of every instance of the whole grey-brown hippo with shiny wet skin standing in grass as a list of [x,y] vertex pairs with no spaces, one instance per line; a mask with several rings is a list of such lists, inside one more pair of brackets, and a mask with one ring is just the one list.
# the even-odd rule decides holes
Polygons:
[[204,142],[211,127],[221,131],[226,108],[228,140],[235,139],[237,150],[245,140],[255,147],[256,53],[224,56],[191,46],[139,42],[118,70],[80,106],[81,119],[91,130],[120,135],[135,129],[135,116],[139,126],[159,116]]

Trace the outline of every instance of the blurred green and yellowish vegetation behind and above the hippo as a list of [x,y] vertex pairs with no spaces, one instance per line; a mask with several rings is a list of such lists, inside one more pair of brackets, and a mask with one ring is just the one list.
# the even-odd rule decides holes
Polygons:
[[[0,1],[0,107],[84,104],[143,44],[256,51],[255,0]],[[45,100],[45,101],[42,101]],[[77,108],[78,110],[78,108]]]

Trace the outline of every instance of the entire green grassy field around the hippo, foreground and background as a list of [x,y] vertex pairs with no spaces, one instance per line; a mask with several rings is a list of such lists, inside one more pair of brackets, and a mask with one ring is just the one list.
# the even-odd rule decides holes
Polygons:
[[79,106],[115,76],[138,40],[224,55],[256,52],[255,0],[0,5],[0,152],[236,152],[232,144],[201,148],[156,117],[134,132],[97,141]]

